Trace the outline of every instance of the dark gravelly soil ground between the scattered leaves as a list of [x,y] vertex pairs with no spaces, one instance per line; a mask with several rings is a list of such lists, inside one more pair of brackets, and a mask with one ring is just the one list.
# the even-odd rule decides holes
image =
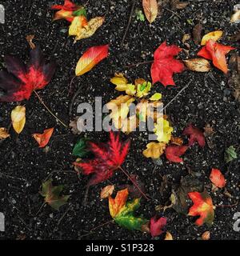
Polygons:
[[[138,77],[150,79],[150,65],[132,68],[124,66],[151,60],[154,50],[164,40],[182,46],[183,34],[191,33],[193,26],[198,22],[202,22],[204,33],[216,29],[224,30],[225,35],[221,42],[238,46],[229,42],[230,35],[239,30],[237,25],[229,22],[233,6],[238,1],[192,0],[185,10],[177,11],[181,18],[164,10],[162,16],[151,26],[147,22],[137,22],[134,18],[123,48],[120,47],[120,43],[128,22],[131,1],[90,0],[86,7],[89,17],[106,14],[106,22],[93,37],[76,44],[73,44],[73,38],[68,38],[63,32],[67,28],[67,22],[51,22],[53,12],[48,10],[48,7],[60,2],[62,1],[0,1],[6,7],[6,24],[0,26],[0,63],[2,65],[5,54],[16,54],[23,60],[27,59],[29,46],[25,37],[27,34],[34,34],[35,42],[42,46],[46,56],[58,62],[58,70],[52,82],[46,89],[39,91],[39,94],[50,109],[65,122],[74,117],[69,117],[68,114],[68,84],[74,76],[78,58],[90,46],[110,43],[110,57],[89,74],[75,80],[75,89],[82,86],[82,93],[74,105],[74,114],[79,102],[94,102],[95,96],[102,96],[103,103],[106,103],[118,95],[114,86],[110,85],[110,78],[114,72],[125,72],[126,76],[133,80]],[[138,1],[138,8],[141,8],[141,1]],[[186,22],[187,19],[191,19],[193,25]],[[190,42],[190,56],[195,56],[198,49],[198,46]],[[186,166],[200,172],[201,179],[206,185],[209,184],[208,176],[212,167],[220,168],[226,174],[226,188],[233,198],[226,197],[218,190],[211,193],[215,205],[229,205],[240,197],[239,160],[226,166],[223,158],[228,146],[237,146],[239,143],[239,103],[229,94],[226,76],[215,68],[212,68],[210,74],[214,81],[209,74],[176,74],[176,87],[165,89],[158,84],[154,86],[154,90],[162,93],[163,101],[166,103],[191,80],[189,88],[166,111],[173,122],[176,135],[180,135],[189,122],[199,127],[204,127],[206,122],[212,124],[216,132],[213,149],[208,146],[201,149],[195,145],[185,154],[184,165],[170,164],[163,158],[163,165],[154,168],[153,162],[142,157],[142,150],[147,144],[146,134],[122,134],[122,138],[129,137],[132,142],[124,168],[132,174],[138,174],[146,184],[147,193],[154,198],[151,202],[142,200],[138,212],[146,218],[151,218],[155,214],[154,207],[163,204],[169,197],[167,190],[164,195],[159,193],[161,175],[168,174],[170,180],[179,182],[180,178],[187,174]],[[57,125],[34,95],[28,102],[22,103],[26,105],[27,111],[25,129],[18,138],[11,130],[11,138],[0,142],[0,212],[6,216],[6,232],[0,232],[0,238],[79,239],[87,233],[86,231],[110,221],[107,201],[101,202],[99,198],[100,188],[106,186],[107,182],[90,190],[89,203],[84,208],[82,198],[88,178],[81,177],[79,181],[74,173],[54,173],[52,178],[55,184],[66,184],[65,194],[71,195],[69,203],[59,212],[45,206],[38,216],[34,217],[43,202],[38,194],[42,180],[53,170],[73,170],[71,163],[75,159],[71,152],[78,136]],[[10,110],[16,104],[1,103],[0,106],[0,126],[9,126]],[[30,135],[53,126],[55,132],[50,142],[50,152],[44,153],[42,149],[38,149]],[[98,140],[107,139],[104,132],[89,135]],[[126,177],[118,173],[111,182],[121,185],[126,183]],[[218,207],[215,211],[214,226],[210,229],[206,226],[195,226],[193,218],[177,214],[172,209],[166,210],[164,215],[168,218],[167,230],[174,239],[198,239],[205,230],[210,230],[212,239],[239,239],[240,233],[233,230],[233,216],[237,211],[240,211],[239,205]],[[138,231],[131,232],[115,224],[109,224],[83,238],[150,239],[150,235]]]

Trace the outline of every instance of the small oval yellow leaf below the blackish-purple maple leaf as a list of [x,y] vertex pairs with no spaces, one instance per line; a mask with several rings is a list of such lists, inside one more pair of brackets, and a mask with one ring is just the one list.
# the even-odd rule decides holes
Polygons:
[[17,134],[20,134],[26,123],[25,106],[16,106],[11,113],[12,124]]

